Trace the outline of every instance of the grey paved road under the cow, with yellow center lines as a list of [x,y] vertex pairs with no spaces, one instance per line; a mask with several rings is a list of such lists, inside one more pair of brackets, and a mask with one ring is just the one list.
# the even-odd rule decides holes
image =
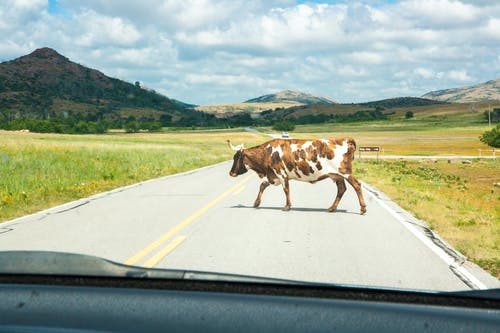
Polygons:
[[[292,210],[281,187],[254,209],[259,179],[228,175],[230,163],[99,194],[0,224],[0,250],[96,255],[145,267],[410,289],[497,286],[469,263],[458,265],[420,222],[365,187],[359,215],[348,190],[327,213],[336,187],[292,182]],[[439,242],[437,242],[439,243]],[[450,251],[448,251],[450,252]],[[464,282],[465,281],[465,282]]]

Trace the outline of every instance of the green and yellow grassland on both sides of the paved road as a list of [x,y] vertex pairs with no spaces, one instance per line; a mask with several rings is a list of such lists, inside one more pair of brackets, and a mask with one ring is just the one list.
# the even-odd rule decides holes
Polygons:
[[[411,126],[410,126],[411,125]],[[487,125],[425,121],[298,126],[296,138],[352,136],[384,154],[477,155]],[[264,129],[265,130],[265,129]],[[246,147],[268,137],[236,130],[158,134],[58,135],[0,132],[0,221],[142,180],[232,157],[226,139]],[[428,222],[455,248],[499,277],[500,165],[356,159],[359,179]]]

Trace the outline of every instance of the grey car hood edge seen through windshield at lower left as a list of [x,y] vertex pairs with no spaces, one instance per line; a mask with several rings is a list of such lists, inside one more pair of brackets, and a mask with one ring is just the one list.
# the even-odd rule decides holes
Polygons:
[[302,284],[297,281],[237,274],[128,266],[100,257],[51,251],[0,252],[0,274],[61,275],[175,280]]

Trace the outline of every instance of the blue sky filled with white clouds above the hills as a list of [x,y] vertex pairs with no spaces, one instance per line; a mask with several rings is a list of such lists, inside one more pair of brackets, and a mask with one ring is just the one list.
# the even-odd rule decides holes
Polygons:
[[0,61],[51,47],[191,104],[341,103],[500,77],[500,1],[3,0]]

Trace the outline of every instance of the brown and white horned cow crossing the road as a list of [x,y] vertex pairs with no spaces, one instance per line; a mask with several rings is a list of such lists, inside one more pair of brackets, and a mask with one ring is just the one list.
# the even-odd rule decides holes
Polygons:
[[361,184],[352,174],[352,161],[356,142],[352,138],[320,140],[274,139],[252,148],[243,145],[229,147],[236,151],[229,175],[236,177],[248,170],[254,170],[263,179],[254,207],[260,205],[262,193],[271,184],[282,185],[286,195],[283,210],[290,210],[289,180],[309,183],[330,178],[337,184],[337,197],[328,208],[335,211],[346,191],[345,181],[356,191],[361,206],[361,214],[366,213],[366,204]]

